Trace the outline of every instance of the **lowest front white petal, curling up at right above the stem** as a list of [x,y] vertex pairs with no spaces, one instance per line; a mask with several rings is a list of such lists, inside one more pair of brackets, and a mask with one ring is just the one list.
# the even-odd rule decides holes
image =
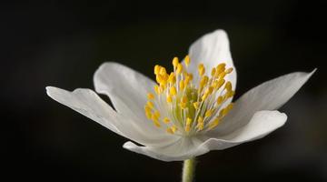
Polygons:
[[260,111],[253,116],[247,126],[223,138],[183,137],[167,147],[141,147],[133,142],[126,142],[124,148],[163,161],[182,161],[201,156],[210,150],[222,150],[259,139],[282,126],[286,119],[287,116],[278,111]]

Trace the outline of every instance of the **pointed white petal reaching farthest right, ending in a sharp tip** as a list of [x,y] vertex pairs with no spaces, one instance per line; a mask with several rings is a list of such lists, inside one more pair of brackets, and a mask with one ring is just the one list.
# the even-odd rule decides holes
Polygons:
[[314,72],[315,70],[311,73],[296,72],[254,87],[235,102],[231,112],[212,133],[215,133],[216,136],[228,134],[245,126],[255,112],[279,108],[301,88]]

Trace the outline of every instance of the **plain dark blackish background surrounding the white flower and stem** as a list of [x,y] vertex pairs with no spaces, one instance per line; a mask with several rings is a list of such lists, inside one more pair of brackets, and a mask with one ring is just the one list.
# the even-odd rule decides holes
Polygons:
[[282,106],[285,126],[199,157],[197,181],[326,181],[325,2],[1,3],[1,177],[179,181],[181,162],[125,150],[124,137],[59,105],[45,86],[94,88],[105,61],[154,77],[155,64],[170,66],[195,39],[223,28],[238,71],[236,97],[275,76],[318,71]]

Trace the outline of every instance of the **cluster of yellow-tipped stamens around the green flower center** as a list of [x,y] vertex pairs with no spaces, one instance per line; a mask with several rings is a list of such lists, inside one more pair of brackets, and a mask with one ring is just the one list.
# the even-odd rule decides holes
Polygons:
[[157,85],[154,93],[147,94],[145,116],[170,134],[192,136],[211,130],[233,108],[233,103],[224,105],[234,95],[232,83],[224,79],[232,67],[226,69],[226,64],[219,64],[209,77],[199,64],[199,78],[193,80],[193,74],[187,72],[189,65],[190,57],[185,56],[184,66],[173,58],[170,74],[163,66],[154,66]]

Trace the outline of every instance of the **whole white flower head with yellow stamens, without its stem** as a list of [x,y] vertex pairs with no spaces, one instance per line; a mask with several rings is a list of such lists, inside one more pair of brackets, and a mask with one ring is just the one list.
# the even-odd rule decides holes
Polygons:
[[47,86],[46,91],[59,103],[140,145],[129,141],[124,148],[175,161],[259,139],[282,126],[287,116],[275,109],[315,71],[272,79],[232,105],[236,71],[223,30],[195,41],[182,64],[173,59],[173,68],[167,74],[163,66],[155,66],[156,84],[126,66],[104,63],[94,74],[94,86],[110,97],[115,110],[90,89],[69,92]]

